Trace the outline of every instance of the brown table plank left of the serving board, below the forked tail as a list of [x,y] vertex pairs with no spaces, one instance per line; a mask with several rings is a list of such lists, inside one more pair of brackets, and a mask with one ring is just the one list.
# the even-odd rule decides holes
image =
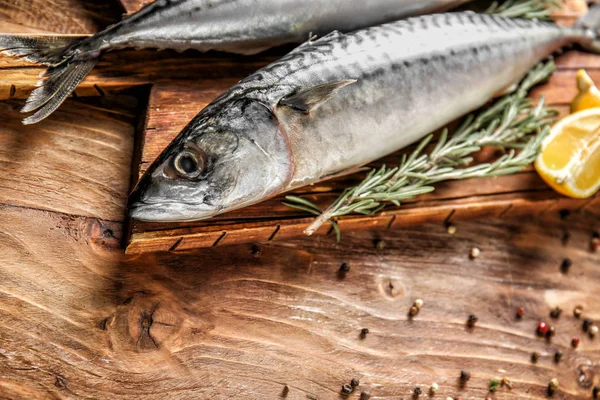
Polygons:
[[0,203],[123,220],[136,102],[69,100],[31,126],[18,103],[0,102]]

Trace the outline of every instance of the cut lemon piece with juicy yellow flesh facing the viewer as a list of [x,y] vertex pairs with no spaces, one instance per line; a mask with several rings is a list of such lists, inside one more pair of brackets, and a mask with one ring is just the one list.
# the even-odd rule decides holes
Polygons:
[[593,196],[600,189],[600,108],[579,111],[554,125],[535,168],[559,193]]

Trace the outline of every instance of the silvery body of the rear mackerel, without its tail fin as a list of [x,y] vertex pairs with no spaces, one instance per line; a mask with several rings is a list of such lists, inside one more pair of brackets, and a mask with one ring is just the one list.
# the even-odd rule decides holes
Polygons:
[[[122,47],[255,54],[309,34],[354,31],[469,0],[158,0],[90,39]],[[100,40],[101,39],[101,40]]]

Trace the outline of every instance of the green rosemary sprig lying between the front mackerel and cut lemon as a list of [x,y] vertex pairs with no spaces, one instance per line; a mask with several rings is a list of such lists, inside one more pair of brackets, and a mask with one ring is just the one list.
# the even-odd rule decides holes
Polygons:
[[[334,218],[352,213],[372,215],[386,205],[432,192],[433,184],[446,180],[508,175],[521,171],[535,160],[550,123],[557,113],[546,107],[542,98],[534,106],[527,94],[545,81],[555,70],[552,61],[535,67],[511,93],[495,101],[476,115],[465,118],[449,135],[444,129],[433,150],[425,153],[433,135],[427,136],[410,155],[404,155],[397,167],[372,169],[366,178],[342,195],[325,211],[297,196],[287,196],[285,205],[316,215],[305,230],[312,235],[330,222],[340,240],[340,229]],[[472,154],[482,147],[493,146],[507,152],[492,163],[471,165]]]

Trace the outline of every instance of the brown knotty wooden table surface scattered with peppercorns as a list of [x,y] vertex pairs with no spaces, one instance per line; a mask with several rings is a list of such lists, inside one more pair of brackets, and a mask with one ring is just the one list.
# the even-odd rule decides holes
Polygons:
[[[94,3],[0,0],[0,30],[86,33],[124,12]],[[597,207],[125,256],[144,94],[68,100],[27,127],[22,100],[0,102],[0,398],[409,399],[435,382],[434,399],[542,399],[552,378],[553,398],[592,398],[600,337],[572,310],[600,319]],[[512,389],[489,393],[496,377]]]

